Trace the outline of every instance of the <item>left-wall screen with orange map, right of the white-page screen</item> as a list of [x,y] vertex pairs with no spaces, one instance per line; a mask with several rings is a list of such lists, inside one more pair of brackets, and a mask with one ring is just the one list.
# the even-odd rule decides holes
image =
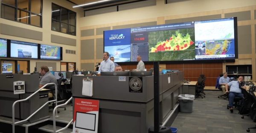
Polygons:
[[62,47],[40,44],[40,59],[61,60]]

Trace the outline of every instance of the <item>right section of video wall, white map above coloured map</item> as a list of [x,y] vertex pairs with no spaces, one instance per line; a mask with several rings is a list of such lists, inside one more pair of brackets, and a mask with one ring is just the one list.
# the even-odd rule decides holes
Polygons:
[[[211,23],[195,23],[195,40],[199,50],[198,57],[201,55],[215,55],[212,57],[234,57],[234,22],[233,21],[216,21]],[[204,44],[200,47],[200,44]],[[204,48],[205,47],[205,48]],[[232,52],[229,52],[232,51]],[[217,56],[219,55],[219,56]],[[201,57],[203,57],[201,56]]]

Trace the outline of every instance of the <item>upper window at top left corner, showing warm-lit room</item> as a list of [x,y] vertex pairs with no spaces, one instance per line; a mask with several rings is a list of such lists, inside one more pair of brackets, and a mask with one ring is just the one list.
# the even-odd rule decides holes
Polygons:
[[1,0],[1,18],[42,27],[42,0]]

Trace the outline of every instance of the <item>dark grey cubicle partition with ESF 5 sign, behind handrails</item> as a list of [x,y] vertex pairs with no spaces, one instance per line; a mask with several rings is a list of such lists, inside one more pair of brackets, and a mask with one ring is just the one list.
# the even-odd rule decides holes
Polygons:
[[[29,97],[33,92],[38,90],[39,76],[35,75],[3,75],[0,74],[0,116],[12,117],[12,104],[21,99]],[[25,93],[14,94],[15,81],[25,81]],[[48,101],[48,91],[40,91],[35,94],[29,100],[25,102],[17,103],[15,105],[15,118],[26,119],[44,103]],[[29,122],[36,122],[41,119],[49,118],[48,106],[41,109],[35,116],[29,119]]]

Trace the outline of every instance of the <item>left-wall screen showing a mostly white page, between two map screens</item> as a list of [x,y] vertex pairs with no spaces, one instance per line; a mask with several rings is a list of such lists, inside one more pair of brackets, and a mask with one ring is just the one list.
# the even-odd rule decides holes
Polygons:
[[38,59],[38,44],[11,40],[11,57]]

